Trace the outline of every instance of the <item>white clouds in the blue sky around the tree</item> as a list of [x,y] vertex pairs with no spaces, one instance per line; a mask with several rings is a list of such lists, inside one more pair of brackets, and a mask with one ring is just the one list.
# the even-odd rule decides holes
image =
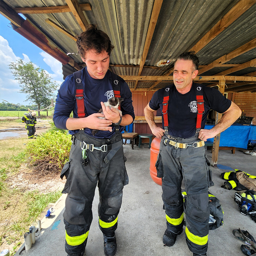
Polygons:
[[[23,60],[29,62],[30,58],[25,53],[22,53]],[[44,58],[44,62],[51,68],[52,74],[47,73],[55,80],[58,84],[63,82],[62,75],[62,65],[61,63],[54,59],[52,56],[46,52],[41,52],[40,55]],[[14,79],[14,76],[11,73],[9,64],[12,61],[17,61],[17,57],[12,48],[9,46],[9,43],[4,37],[0,36],[0,102],[6,100],[10,103],[20,103],[20,104],[29,104],[26,101],[26,94],[19,93],[20,85]],[[36,65],[36,67],[38,67]],[[57,94],[57,91],[56,91]]]

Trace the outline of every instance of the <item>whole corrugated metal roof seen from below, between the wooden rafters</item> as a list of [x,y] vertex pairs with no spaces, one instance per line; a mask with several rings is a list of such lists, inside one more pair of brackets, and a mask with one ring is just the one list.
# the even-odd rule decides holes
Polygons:
[[[12,8],[67,5],[65,0],[4,0],[4,2]],[[110,56],[110,63],[134,65],[134,67],[112,66],[111,69],[118,75],[136,76],[155,1],[78,0],[78,3],[91,4],[91,11],[83,11],[86,19],[106,32],[115,46]],[[161,76],[165,70],[173,66],[174,60],[180,53],[193,47],[236,3],[238,0],[164,0],[145,62],[147,66],[161,67],[161,70],[143,68],[141,76]],[[197,53],[199,64],[207,65],[255,38],[255,13],[256,4],[200,50]],[[69,57],[76,63],[81,63],[75,41],[45,22],[45,19],[49,18],[76,36],[82,32],[82,29],[72,12],[24,15],[62,51],[66,54],[70,53]],[[227,64],[241,64],[252,60],[256,57],[255,51],[254,48],[228,61]],[[215,67],[201,75],[215,75],[228,68]],[[248,70],[253,72],[255,68]],[[64,70],[65,72],[69,71]],[[247,69],[236,71],[232,75],[238,76],[246,74],[245,72]],[[131,88],[134,88],[135,83],[135,81],[128,82]],[[149,88],[153,84],[139,81],[137,88]],[[166,83],[160,83],[156,88],[161,88],[165,86],[164,84]]]

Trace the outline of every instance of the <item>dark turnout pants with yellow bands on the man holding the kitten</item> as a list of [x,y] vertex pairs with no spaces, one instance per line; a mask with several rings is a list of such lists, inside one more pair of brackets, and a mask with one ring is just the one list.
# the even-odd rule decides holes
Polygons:
[[[119,132],[107,140],[87,136],[84,132],[76,133],[75,137],[96,147],[122,140],[122,134]],[[81,147],[83,145],[79,143],[76,145],[72,143],[69,162],[61,172],[61,177],[65,175],[67,178],[62,193],[68,193],[63,217],[66,229],[65,250],[69,255],[83,255],[92,222],[92,201],[97,184],[100,194],[99,226],[106,235],[113,233],[117,228],[123,188],[128,184],[123,146],[108,164],[104,162],[104,158],[109,150],[108,152],[87,150],[89,158],[87,166],[81,163],[84,162]]]

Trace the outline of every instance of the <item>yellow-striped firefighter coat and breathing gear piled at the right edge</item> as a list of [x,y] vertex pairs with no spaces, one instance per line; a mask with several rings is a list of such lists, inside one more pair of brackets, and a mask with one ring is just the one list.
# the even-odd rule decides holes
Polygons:
[[234,200],[240,213],[248,214],[256,222],[256,176],[235,170],[235,172],[223,172],[220,177],[226,180],[222,188],[238,191]]

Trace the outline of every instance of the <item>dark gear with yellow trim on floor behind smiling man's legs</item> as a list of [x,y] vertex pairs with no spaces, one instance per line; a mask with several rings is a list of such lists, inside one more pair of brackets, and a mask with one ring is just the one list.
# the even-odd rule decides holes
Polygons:
[[[186,206],[186,199],[187,199],[187,193],[185,190],[182,190],[182,196],[184,199],[184,207]],[[209,218],[209,230],[214,230],[216,228],[223,226],[223,217],[224,212],[222,210],[222,207],[220,205],[220,200],[212,195],[208,191],[208,207],[210,209],[210,218]]]

